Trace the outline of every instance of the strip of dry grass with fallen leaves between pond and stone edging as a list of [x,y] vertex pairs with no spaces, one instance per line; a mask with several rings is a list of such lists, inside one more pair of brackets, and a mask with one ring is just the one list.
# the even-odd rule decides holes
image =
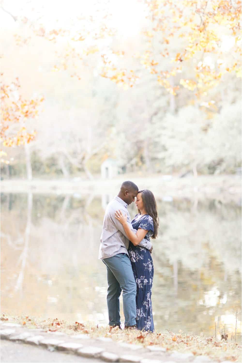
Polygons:
[[46,331],[62,331],[66,334],[89,334],[91,338],[109,337],[117,342],[141,344],[144,347],[156,345],[166,348],[168,352],[193,353],[206,355],[213,360],[222,362],[230,360],[241,362],[241,346],[234,342],[217,340],[214,337],[191,336],[181,330],[177,334],[171,331],[146,333],[135,330],[120,330],[118,327],[111,329],[109,326],[100,327],[90,323],[68,322],[64,320],[30,317],[25,315],[10,316],[1,314],[2,321],[16,322],[29,329],[41,328]]

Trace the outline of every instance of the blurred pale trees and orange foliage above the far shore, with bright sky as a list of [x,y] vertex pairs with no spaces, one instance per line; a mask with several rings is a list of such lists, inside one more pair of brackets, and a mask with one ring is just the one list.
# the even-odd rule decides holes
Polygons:
[[3,177],[91,179],[107,158],[144,175],[241,166],[241,1],[0,14]]

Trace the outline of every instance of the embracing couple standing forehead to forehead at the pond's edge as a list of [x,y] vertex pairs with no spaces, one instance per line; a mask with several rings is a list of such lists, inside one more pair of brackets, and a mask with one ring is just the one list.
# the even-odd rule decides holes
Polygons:
[[[135,198],[138,214],[131,221],[127,206]],[[124,329],[154,331],[150,237],[157,237],[158,225],[153,193],[148,189],[139,191],[132,181],[124,181],[118,195],[107,206],[99,248],[99,259],[107,268],[107,307],[111,326],[121,329],[119,297],[123,291]]]

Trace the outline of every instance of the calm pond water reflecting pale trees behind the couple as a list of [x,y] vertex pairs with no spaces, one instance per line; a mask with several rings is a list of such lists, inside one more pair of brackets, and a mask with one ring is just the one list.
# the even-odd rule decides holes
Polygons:
[[[2,312],[108,321],[106,269],[97,257],[111,197],[1,195]],[[155,328],[214,335],[216,322],[234,336],[238,309],[240,334],[241,208],[188,199],[157,205]]]

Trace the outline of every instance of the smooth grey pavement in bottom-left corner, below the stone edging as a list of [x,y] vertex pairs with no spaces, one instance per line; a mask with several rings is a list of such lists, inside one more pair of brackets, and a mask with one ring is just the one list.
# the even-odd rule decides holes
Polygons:
[[39,346],[1,340],[1,363],[75,363],[102,362],[95,358],[83,358],[74,354],[49,351]]

